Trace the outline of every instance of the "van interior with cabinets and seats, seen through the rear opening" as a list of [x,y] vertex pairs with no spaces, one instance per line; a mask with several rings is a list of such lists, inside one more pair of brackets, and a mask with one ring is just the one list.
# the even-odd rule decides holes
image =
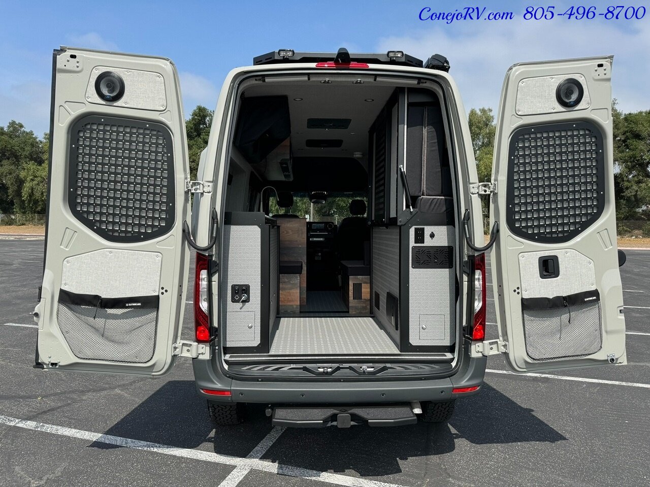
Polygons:
[[431,79],[241,82],[218,293],[226,364],[452,362],[462,273],[444,106]]

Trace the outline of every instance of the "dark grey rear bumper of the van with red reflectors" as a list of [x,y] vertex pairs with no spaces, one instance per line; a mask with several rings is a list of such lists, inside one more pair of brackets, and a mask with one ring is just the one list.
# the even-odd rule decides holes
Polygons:
[[[444,379],[411,381],[349,381],[349,382],[280,382],[239,381],[225,377],[211,360],[192,360],[194,379],[199,395],[221,403],[265,404],[382,404],[410,401],[449,401],[477,393],[454,394],[454,388],[480,386],[483,383],[487,358],[471,358],[468,347],[463,347],[463,360],[455,375]],[[211,395],[203,389],[230,391],[231,395]],[[479,389],[480,390],[480,389]]]

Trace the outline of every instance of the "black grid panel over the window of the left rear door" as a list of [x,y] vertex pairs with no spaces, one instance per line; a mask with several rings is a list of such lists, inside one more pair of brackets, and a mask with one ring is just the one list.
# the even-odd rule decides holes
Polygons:
[[68,205],[111,242],[141,242],[174,225],[172,134],[159,123],[87,116],[70,132]]

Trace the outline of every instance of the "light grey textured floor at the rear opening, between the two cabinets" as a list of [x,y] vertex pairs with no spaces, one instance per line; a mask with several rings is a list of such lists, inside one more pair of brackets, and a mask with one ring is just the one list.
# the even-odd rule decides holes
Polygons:
[[395,354],[395,344],[367,317],[278,318],[270,355]]

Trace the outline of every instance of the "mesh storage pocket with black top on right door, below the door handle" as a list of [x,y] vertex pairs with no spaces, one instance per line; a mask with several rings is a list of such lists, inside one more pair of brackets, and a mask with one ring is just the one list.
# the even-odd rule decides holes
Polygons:
[[521,299],[526,353],[551,361],[588,356],[603,346],[600,295],[597,290]]

